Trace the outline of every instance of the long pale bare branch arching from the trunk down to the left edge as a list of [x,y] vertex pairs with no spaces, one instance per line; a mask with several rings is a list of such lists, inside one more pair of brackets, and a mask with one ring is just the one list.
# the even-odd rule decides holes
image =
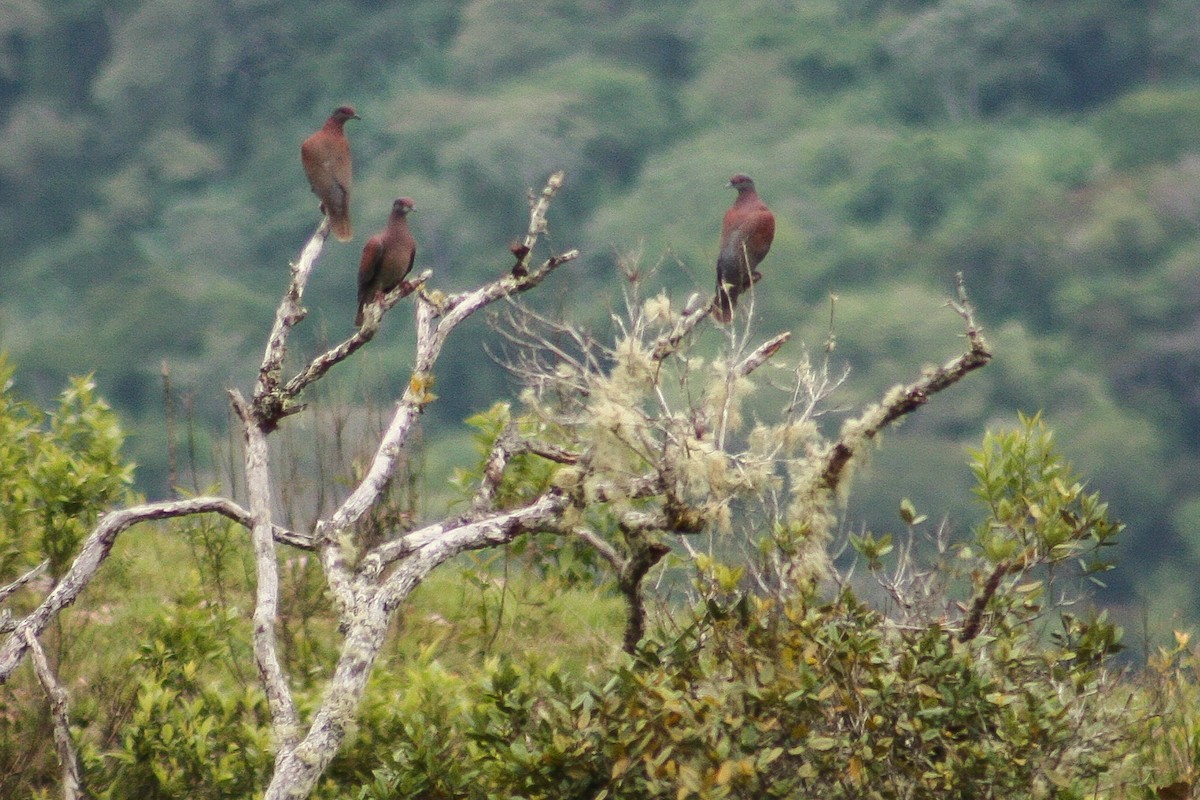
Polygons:
[[[79,594],[88,587],[95,577],[100,565],[108,558],[116,537],[139,522],[151,519],[172,519],[175,517],[190,517],[196,513],[220,513],[234,522],[250,524],[250,512],[239,506],[233,500],[226,498],[191,498],[188,500],[172,500],[167,503],[150,503],[146,505],[110,511],[100,518],[88,539],[84,540],[79,555],[71,564],[71,569],[58,582],[46,600],[13,626],[12,634],[0,646],[0,684],[8,680],[12,672],[20,663],[25,655],[28,644],[25,634],[41,634],[46,630],[50,619],[60,610],[73,603]],[[299,534],[293,534],[280,528],[272,528],[272,534],[280,541],[288,545],[304,545],[306,549],[312,549],[312,543]]]

